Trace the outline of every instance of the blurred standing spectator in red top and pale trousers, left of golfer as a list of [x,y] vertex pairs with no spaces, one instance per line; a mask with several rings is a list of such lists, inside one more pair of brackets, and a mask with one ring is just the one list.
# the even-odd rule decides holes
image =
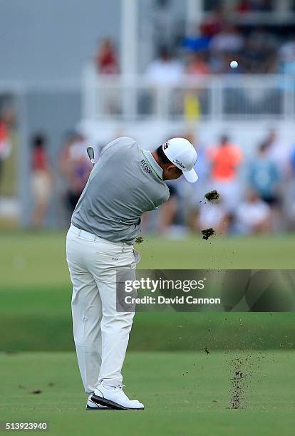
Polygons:
[[35,135],[32,142],[31,183],[34,206],[31,222],[33,227],[40,228],[46,218],[52,182],[46,153],[46,137]]

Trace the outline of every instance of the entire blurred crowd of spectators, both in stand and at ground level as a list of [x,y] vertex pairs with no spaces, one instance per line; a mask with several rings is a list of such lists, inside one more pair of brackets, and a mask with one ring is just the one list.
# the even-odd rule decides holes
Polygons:
[[[234,7],[241,17],[249,12],[273,11],[274,1],[240,0]],[[150,88],[154,85],[173,88],[185,74],[191,78],[206,78],[222,73],[295,73],[295,30],[292,31],[292,26],[288,30],[283,25],[245,26],[239,20],[232,20],[222,7],[212,9],[202,23],[192,26],[189,33],[175,34],[169,43],[157,41],[156,51],[157,56],[144,71],[144,77],[152,85]],[[232,60],[238,62],[238,68],[230,68]],[[111,38],[100,41],[93,62],[101,75],[120,74],[120,57]],[[294,88],[294,84],[292,86]],[[195,115],[200,113],[201,88],[198,86],[197,97],[187,88],[184,105],[181,100],[180,110],[184,110],[186,120],[196,120]],[[120,113],[117,94],[110,89],[106,91],[106,114]],[[268,90],[266,94],[269,95]],[[175,89],[173,98],[177,103]],[[236,93],[232,100],[237,100]],[[232,100],[226,98],[227,104]],[[174,110],[173,101],[170,102],[172,114],[178,110]],[[202,111],[206,111],[206,98],[204,101]],[[264,103],[269,105],[269,100],[266,98]],[[149,105],[149,96],[140,95],[138,111],[147,112]],[[249,112],[255,113],[254,107]],[[0,197],[3,195],[4,163],[11,155],[11,126],[14,125],[11,120],[9,111],[1,111]],[[187,137],[197,149],[199,180],[195,185],[184,179],[170,182],[169,201],[143,217],[144,232],[181,237],[186,232],[200,232],[209,227],[221,234],[295,229],[295,140],[285,143],[275,130],[269,130],[261,142],[253,144],[255,152],[249,157],[227,133],[220,134],[214,143],[203,143],[192,133],[180,132],[179,136]],[[162,142],[165,140],[167,137],[162,138]],[[92,168],[86,153],[87,138],[80,132],[66,133],[55,163],[49,157],[51,144],[48,142],[43,132],[36,132],[30,138],[30,221],[31,227],[37,229],[46,227],[53,202],[60,227],[68,225]],[[249,148],[253,149],[253,146]],[[96,147],[95,159],[99,149]],[[211,190],[219,192],[219,202],[206,201],[204,195]]]

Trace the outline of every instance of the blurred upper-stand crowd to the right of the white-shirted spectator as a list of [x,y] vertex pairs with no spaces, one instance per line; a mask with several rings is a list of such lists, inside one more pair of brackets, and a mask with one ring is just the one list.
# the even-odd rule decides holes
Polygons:
[[[241,1],[239,13],[268,11],[267,1]],[[292,73],[295,71],[295,32],[263,25],[245,28],[227,20],[222,9],[212,11],[205,22],[181,41],[180,59],[185,72],[195,76],[209,73]],[[239,63],[232,69],[230,61]]]

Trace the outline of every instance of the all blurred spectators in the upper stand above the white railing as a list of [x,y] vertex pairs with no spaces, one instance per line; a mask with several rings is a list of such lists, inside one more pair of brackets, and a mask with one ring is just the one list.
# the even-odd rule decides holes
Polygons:
[[[236,11],[271,11],[270,1],[240,1]],[[157,56],[146,70],[155,83],[170,85],[180,81],[184,73],[202,77],[209,74],[260,74],[295,72],[295,30],[271,28],[262,24],[251,27],[229,21],[224,9],[217,7],[200,25],[192,26],[187,36],[175,36],[171,43],[157,42]],[[239,67],[232,69],[230,61]],[[105,38],[95,54],[100,74],[120,73],[115,44]]]

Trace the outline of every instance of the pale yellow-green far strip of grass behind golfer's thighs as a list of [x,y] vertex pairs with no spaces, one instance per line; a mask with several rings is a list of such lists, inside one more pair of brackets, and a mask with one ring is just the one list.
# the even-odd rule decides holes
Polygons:
[[[181,241],[143,235],[141,269],[294,269],[295,237],[212,238]],[[66,232],[0,234],[0,289],[69,286]]]

